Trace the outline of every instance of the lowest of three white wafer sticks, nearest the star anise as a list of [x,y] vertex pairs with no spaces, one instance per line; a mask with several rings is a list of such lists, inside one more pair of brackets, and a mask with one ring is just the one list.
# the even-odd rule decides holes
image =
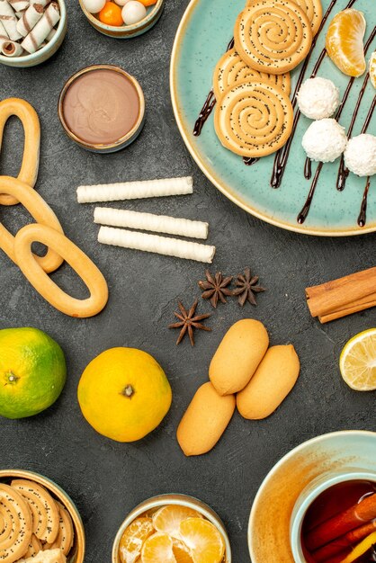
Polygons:
[[101,227],[98,241],[103,245],[122,246],[143,252],[154,252],[158,255],[176,256],[186,260],[212,263],[215,246],[200,245],[186,240],[170,237],[158,237],[135,233],[123,228]]

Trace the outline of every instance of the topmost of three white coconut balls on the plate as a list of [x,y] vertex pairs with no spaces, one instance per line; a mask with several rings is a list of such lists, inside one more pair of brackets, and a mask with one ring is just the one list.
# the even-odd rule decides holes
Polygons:
[[300,112],[310,120],[323,120],[336,112],[339,105],[339,89],[327,78],[309,78],[298,94]]

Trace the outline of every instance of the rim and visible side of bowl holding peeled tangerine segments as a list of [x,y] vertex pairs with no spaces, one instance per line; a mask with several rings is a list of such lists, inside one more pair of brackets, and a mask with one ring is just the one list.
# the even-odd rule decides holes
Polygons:
[[225,541],[226,552],[225,558],[223,559],[223,563],[231,563],[231,547],[228,541],[228,534],[225,529],[224,523],[220,520],[219,515],[216,514],[208,505],[205,505],[194,498],[193,496],[187,495],[160,495],[160,496],[153,496],[148,500],[144,501],[140,505],[136,506],[130,514],[128,514],[127,518],[121,524],[119,528],[119,532],[116,534],[115,541],[113,542],[112,546],[112,563],[120,563],[119,558],[119,545],[121,542],[121,536],[128,528],[130,523],[133,522],[136,518],[138,518],[141,514],[149,510],[153,510],[155,508],[159,508],[160,506],[166,505],[181,505],[187,506],[188,508],[192,508],[193,510],[197,510],[197,512],[201,513],[207,520],[213,523],[221,533],[223,540]]

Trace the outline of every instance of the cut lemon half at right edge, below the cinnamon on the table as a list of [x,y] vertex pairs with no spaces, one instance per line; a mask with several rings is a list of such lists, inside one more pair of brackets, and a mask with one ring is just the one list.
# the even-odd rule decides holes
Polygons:
[[339,369],[351,389],[376,389],[376,328],[364,330],[345,344],[339,358]]

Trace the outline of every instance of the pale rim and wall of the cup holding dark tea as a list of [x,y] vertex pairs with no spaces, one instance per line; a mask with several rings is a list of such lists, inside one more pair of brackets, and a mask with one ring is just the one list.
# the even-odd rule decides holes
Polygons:
[[338,472],[329,471],[311,481],[309,485],[302,490],[291,514],[290,541],[295,563],[308,563],[304,556],[302,545],[302,527],[309,507],[318,496],[322,495],[329,488],[351,481],[374,482],[376,484],[376,472],[361,471],[352,468],[342,469]]

